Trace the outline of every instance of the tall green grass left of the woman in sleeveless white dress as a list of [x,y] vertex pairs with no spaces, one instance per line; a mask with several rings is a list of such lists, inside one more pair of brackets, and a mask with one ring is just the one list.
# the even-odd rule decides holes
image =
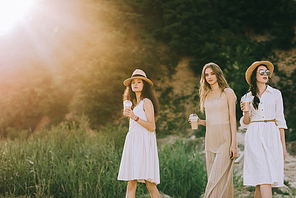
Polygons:
[[121,197],[125,185],[116,182],[121,153],[114,145],[75,123],[33,138],[2,141],[1,195]]

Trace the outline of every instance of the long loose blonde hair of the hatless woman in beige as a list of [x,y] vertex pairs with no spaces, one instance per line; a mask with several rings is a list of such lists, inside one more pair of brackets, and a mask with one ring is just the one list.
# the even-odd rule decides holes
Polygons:
[[204,105],[205,105],[205,99],[208,95],[208,93],[211,91],[210,84],[206,81],[205,77],[205,71],[207,68],[211,68],[213,72],[215,73],[218,81],[218,85],[221,89],[221,91],[224,91],[225,88],[228,88],[229,85],[223,75],[223,72],[221,68],[216,63],[207,63],[202,69],[201,78],[200,78],[200,87],[199,87],[199,104],[200,104],[200,110],[203,112]]

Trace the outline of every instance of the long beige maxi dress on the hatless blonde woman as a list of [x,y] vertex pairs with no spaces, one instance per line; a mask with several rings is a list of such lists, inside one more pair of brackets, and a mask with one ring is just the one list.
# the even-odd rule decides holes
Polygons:
[[[235,97],[235,94],[233,94]],[[208,95],[209,96],[209,95]],[[233,164],[230,159],[230,114],[225,91],[218,98],[206,97],[206,164],[208,183],[205,198],[233,198]]]

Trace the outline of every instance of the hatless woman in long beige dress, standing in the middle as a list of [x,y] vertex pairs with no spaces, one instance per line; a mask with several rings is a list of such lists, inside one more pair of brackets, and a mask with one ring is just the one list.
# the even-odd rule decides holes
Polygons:
[[205,151],[208,183],[205,198],[233,198],[233,164],[237,157],[236,96],[221,68],[215,63],[203,67],[200,80],[200,109],[205,109]]

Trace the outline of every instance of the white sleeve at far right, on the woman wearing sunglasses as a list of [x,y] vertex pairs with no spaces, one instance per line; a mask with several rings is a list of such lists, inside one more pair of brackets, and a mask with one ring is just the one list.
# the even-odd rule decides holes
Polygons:
[[288,129],[285,116],[284,116],[284,104],[282,93],[277,90],[275,96],[275,113],[276,113],[276,122],[279,128]]

